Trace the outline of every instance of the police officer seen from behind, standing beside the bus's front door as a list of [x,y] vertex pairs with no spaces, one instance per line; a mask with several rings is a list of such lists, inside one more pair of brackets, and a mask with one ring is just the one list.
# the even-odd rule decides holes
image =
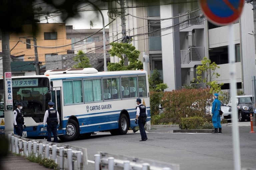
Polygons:
[[57,128],[59,128],[59,122],[60,122],[60,118],[59,118],[59,113],[57,110],[53,109],[53,102],[49,102],[48,106],[49,109],[47,111],[45,111],[44,114],[44,127],[45,127],[45,123],[47,123],[47,133],[48,133],[48,137],[47,137],[47,141],[51,142],[51,136],[53,134],[53,142],[58,142],[58,136],[57,136]]

